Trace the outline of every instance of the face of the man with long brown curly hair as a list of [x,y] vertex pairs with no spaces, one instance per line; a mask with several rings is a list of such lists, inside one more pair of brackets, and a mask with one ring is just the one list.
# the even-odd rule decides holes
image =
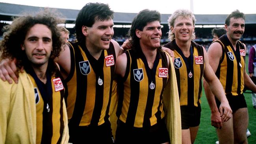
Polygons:
[[48,65],[48,59],[52,51],[52,32],[43,24],[35,24],[30,30],[22,45],[28,60],[33,67]]

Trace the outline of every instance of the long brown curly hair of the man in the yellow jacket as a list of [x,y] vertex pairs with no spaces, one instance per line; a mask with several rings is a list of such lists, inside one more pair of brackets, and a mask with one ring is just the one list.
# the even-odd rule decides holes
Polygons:
[[27,32],[35,24],[43,24],[52,32],[52,52],[50,60],[58,57],[61,52],[61,46],[64,43],[61,39],[61,33],[57,24],[64,23],[64,19],[58,18],[60,14],[49,9],[44,9],[36,14],[24,14],[21,17],[14,18],[11,25],[3,28],[4,35],[0,41],[1,59],[17,59],[17,67],[20,69],[28,61],[26,53],[21,49]]

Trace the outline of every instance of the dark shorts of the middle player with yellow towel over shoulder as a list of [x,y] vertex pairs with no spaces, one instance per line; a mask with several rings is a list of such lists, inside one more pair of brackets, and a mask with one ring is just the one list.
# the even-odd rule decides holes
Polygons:
[[121,120],[118,121],[116,144],[162,144],[169,141],[164,118],[158,124],[147,128],[130,127]]

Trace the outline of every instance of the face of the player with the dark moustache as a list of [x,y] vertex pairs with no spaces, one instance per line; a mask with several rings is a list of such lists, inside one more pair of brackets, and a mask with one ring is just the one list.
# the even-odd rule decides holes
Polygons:
[[243,20],[243,18],[232,17],[230,18],[229,26],[225,24],[225,29],[228,37],[230,37],[233,41],[237,41],[242,37],[245,31],[245,20]]

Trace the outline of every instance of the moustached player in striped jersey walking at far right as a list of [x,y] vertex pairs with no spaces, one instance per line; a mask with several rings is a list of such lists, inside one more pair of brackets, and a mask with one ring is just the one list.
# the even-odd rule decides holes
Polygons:
[[[217,129],[220,144],[247,144],[246,129],[248,126],[248,110],[243,96],[244,86],[256,92],[256,85],[245,70],[246,46],[239,39],[245,31],[245,15],[238,10],[233,11],[225,21],[226,35],[214,41],[209,49],[209,61],[217,78],[221,81],[226,98],[233,111],[232,118],[223,122],[222,129]],[[208,87],[204,87],[206,96],[212,97]],[[219,100],[214,98],[213,107],[219,107]]]

